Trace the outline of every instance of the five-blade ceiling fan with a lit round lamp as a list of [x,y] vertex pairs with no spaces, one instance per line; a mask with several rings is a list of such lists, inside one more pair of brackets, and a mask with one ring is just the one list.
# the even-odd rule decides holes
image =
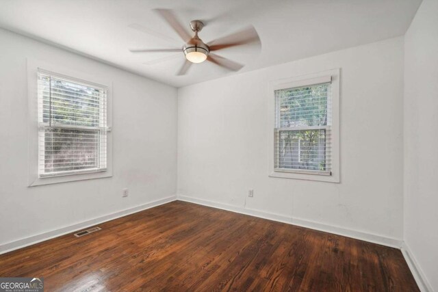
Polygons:
[[157,9],[156,11],[162,16],[162,18],[164,18],[170,27],[177,32],[183,42],[185,42],[183,47],[175,49],[131,49],[129,51],[132,53],[183,52],[185,55],[185,62],[177,72],[177,75],[185,75],[193,63],[202,63],[206,60],[232,71],[240,70],[244,65],[211,52],[244,44],[260,45],[259,35],[253,26],[205,44],[205,42],[203,42],[198,36],[198,33],[203,27],[205,27],[205,24],[202,21],[190,21],[190,28],[194,31],[194,36],[190,36],[190,34],[184,29],[183,25],[179,23],[175,14],[172,13],[172,10]]

